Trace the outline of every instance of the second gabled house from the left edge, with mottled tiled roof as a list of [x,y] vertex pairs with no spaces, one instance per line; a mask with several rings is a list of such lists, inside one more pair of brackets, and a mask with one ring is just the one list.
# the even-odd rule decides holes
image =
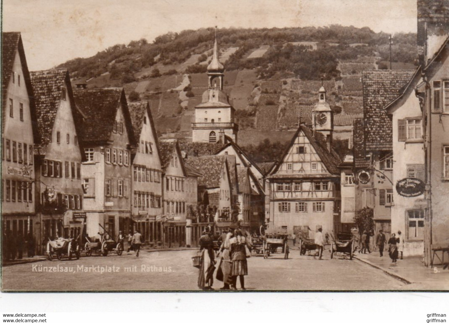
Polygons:
[[77,238],[85,226],[79,140],[83,114],[76,108],[68,70],[31,72],[31,83],[40,137],[34,147],[38,238]]

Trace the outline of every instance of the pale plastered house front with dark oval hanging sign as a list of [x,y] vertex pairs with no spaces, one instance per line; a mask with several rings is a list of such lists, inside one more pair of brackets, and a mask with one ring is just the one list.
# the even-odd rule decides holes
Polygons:
[[[393,201],[391,208],[392,233],[404,240],[404,256],[422,256],[424,253],[424,189],[407,192],[416,178],[425,181],[423,113],[414,88],[421,83],[421,70],[403,88],[400,95],[387,105],[391,115],[393,133]],[[409,180],[408,180],[409,179]],[[422,203],[421,203],[422,204]]]

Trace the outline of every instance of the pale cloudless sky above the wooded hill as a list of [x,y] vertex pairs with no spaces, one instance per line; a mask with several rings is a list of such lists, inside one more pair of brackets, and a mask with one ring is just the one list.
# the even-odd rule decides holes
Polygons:
[[21,31],[30,70],[168,31],[368,26],[416,32],[414,0],[3,0],[3,31]]

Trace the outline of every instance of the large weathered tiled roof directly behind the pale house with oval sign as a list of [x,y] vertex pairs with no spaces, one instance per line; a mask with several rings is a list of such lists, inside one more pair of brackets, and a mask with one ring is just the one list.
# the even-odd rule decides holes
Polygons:
[[396,99],[414,70],[365,70],[362,72],[365,145],[369,150],[392,149],[392,122],[385,106]]

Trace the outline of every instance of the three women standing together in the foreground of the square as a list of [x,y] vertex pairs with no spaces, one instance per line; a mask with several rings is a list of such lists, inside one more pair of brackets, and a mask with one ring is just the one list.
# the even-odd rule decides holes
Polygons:
[[[198,287],[203,290],[213,289],[214,272],[216,279],[223,282],[222,290],[237,290],[237,277],[240,288],[245,290],[245,276],[248,275],[247,258],[251,256],[251,236],[243,234],[242,230],[229,229],[223,231],[219,241],[220,249],[215,255],[213,236],[209,228],[202,232],[200,245],[200,269]],[[215,266],[217,264],[217,266]]]

